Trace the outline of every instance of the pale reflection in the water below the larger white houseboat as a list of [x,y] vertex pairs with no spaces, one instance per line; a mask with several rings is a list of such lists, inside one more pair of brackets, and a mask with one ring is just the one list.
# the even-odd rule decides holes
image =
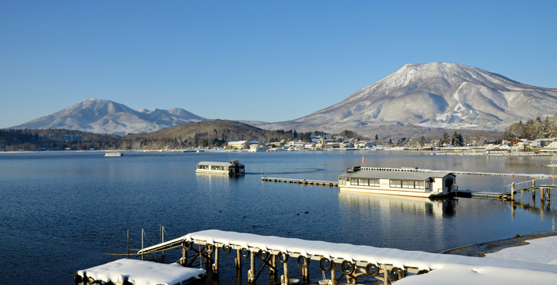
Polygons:
[[389,215],[391,211],[428,215],[433,217],[452,216],[455,212],[453,199],[431,200],[418,197],[378,195],[358,192],[338,192],[338,202],[356,211],[373,208]]

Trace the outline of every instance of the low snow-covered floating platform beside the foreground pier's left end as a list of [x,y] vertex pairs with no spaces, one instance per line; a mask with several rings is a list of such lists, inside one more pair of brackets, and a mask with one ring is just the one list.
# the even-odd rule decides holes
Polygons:
[[96,281],[105,281],[116,284],[124,281],[124,277],[134,285],[174,285],[189,279],[199,279],[205,274],[205,269],[194,269],[180,264],[161,264],[152,261],[136,259],[119,259],[116,261],[77,271],[79,276],[86,274]]

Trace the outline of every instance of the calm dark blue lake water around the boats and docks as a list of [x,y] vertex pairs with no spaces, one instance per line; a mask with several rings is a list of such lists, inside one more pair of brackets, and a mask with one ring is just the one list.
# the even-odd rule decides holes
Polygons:
[[[160,225],[166,229],[165,240],[221,229],[426,252],[556,231],[554,199],[549,209],[539,200],[531,207],[529,194],[518,195],[529,207],[511,209],[509,203],[489,199],[429,201],[261,182],[261,173],[335,181],[347,167],[361,165],[362,156],[369,167],[544,174],[551,168],[542,165],[553,157],[440,157],[384,151],[103,155],[0,154],[4,249],[0,284],[74,284],[76,271],[122,258],[104,253],[126,254],[127,230],[130,247],[139,249],[141,229],[146,231],[147,247],[160,242]],[[199,161],[232,159],[246,165],[246,175],[231,179],[194,172]],[[514,181],[524,180],[531,178]],[[503,185],[512,181],[512,177],[457,175],[461,190],[503,192]],[[168,251],[165,261],[177,261],[180,255],[179,249]],[[236,279],[233,259],[232,254],[221,257],[220,284],[247,283],[245,273]],[[249,269],[246,265],[244,271]]]

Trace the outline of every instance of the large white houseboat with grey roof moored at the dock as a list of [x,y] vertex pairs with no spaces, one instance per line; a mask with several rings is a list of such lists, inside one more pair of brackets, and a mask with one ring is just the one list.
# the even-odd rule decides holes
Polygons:
[[457,190],[453,173],[366,170],[359,166],[339,175],[338,187],[341,191],[428,198],[453,195]]

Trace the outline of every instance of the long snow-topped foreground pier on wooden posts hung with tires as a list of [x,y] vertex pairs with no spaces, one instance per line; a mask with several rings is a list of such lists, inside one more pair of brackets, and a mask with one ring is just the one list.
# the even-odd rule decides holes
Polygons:
[[[411,280],[419,281],[419,284],[516,284],[528,281],[531,284],[550,284],[557,280],[557,264],[536,263],[533,258],[530,261],[516,261],[506,259],[486,259],[480,257],[464,257],[451,254],[434,254],[429,252],[405,251],[400,249],[388,249],[369,247],[353,244],[336,244],[331,242],[310,241],[304,239],[293,239],[283,237],[261,236],[256,234],[245,234],[239,232],[224,232],[216,229],[194,232],[183,237],[173,239],[169,242],[148,247],[139,252],[149,253],[160,249],[169,249],[179,244],[199,244],[206,248],[210,245],[211,252],[218,252],[220,248],[236,249],[239,252],[251,253],[251,271],[249,276],[252,278],[254,270],[254,252],[261,251],[281,255],[287,254],[291,258],[298,258],[298,266],[307,264],[309,259],[318,260],[320,267],[321,261],[326,259],[334,264],[333,268],[345,271],[352,268],[353,271],[345,271],[346,276],[353,275],[356,271],[365,272],[369,268],[381,269],[385,284],[389,284],[388,279],[392,278],[392,271],[404,271],[412,275],[411,278],[401,279],[401,284]],[[557,244],[554,244],[557,247]],[[216,250],[214,250],[216,247]],[[209,252],[209,255],[211,254]],[[248,255],[244,258],[247,258]],[[261,259],[261,257],[260,257]],[[300,259],[304,262],[300,263]],[[263,260],[263,259],[262,259]],[[296,260],[296,259],[294,259]],[[342,263],[342,266],[336,264]],[[349,266],[345,266],[345,263]],[[358,266],[360,266],[358,268]],[[364,271],[362,267],[366,267]],[[285,275],[288,267],[285,266]],[[303,267],[302,267],[303,268]],[[321,268],[323,269],[323,268]],[[330,270],[330,269],[329,269]],[[324,270],[326,271],[326,270]],[[406,274],[399,271],[395,274],[399,279]],[[422,274],[421,274],[422,273]],[[423,274],[427,273],[427,274]],[[334,279],[334,270],[331,271],[331,279]],[[259,276],[259,274],[258,274]],[[387,277],[388,276],[388,277]],[[469,281],[461,281],[460,276]],[[353,277],[355,279],[355,277]],[[396,280],[395,279],[395,280]],[[286,278],[286,280],[288,280]],[[443,280],[443,281],[441,281]],[[456,281],[458,280],[458,281]],[[252,281],[252,280],[250,280]],[[432,282],[430,282],[432,281]],[[399,282],[399,281],[397,281]],[[285,284],[283,281],[282,284]],[[334,284],[334,283],[333,283]]]

